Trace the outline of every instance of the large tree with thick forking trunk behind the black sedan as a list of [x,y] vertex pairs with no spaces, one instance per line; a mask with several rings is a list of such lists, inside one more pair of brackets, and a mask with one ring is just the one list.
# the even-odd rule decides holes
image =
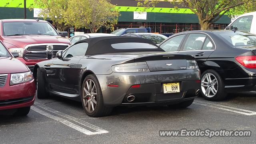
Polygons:
[[[137,0],[141,1],[141,0]],[[255,6],[255,0],[145,0],[138,2],[138,6],[155,6],[160,1],[169,1],[176,6],[186,6],[198,16],[201,30],[209,29],[210,25],[218,21],[224,14],[233,10],[248,9]],[[238,8],[240,6],[240,8]]]

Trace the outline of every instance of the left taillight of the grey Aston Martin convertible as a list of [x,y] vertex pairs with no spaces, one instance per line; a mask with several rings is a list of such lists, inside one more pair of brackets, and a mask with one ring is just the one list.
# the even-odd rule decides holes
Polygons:
[[118,64],[111,67],[113,72],[150,72],[146,62]]

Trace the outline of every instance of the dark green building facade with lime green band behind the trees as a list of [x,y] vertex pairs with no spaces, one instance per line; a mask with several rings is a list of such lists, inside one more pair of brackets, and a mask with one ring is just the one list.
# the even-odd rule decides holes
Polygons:
[[[170,2],[160,2],[154,8],[146,9],[137,7],[136,0],[110,0],[120,10],[117,28],[150,27],[152,32],[176,33],[187,30],[199,30],[198,17],[190,9],[178,6],[175,9]],[[26,0],[26,18],[36,19],[34,10],[28,7],[34,4],[34,0]],[[24,18],[24,0],[0,0],[0,19]],[[224,29],[231,19],[224,15],[210,29]],[[87,32],[86,30],[84,30]],[[100,32],[109,32],[102,28]]]

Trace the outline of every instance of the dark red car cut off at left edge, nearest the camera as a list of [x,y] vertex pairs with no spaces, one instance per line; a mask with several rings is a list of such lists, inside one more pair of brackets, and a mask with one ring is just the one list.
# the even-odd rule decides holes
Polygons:
[[34,104],[36,85],[30,69],[8,52],[0,41],[0,110],[18,108],[15,115],[27,115]]

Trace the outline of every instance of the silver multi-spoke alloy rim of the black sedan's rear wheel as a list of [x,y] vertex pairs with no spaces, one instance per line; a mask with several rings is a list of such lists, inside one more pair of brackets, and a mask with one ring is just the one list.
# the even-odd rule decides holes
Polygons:
[[204,74],[201,80],[201,89],[206,97],[212,98],[215,96],[218,92],[217,78],[211,73]]

